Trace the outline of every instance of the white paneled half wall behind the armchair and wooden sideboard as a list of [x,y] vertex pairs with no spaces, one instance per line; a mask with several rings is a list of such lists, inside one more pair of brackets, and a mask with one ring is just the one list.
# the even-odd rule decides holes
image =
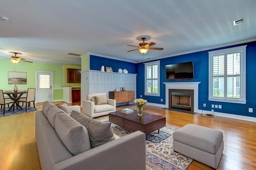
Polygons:
[[[81,72],[81,101],[86,100],[87,94],[116,91],[116,88],[124,87],[125,90],[134,91],[136,98],[137,74],[102,72],[98,70],[86,70]],[[82,102],[81,102],[82,107]]]

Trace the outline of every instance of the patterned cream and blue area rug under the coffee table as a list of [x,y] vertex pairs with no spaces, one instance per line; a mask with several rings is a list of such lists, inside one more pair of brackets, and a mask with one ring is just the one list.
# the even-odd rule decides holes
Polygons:
[[[98,119],[108,122],[108,117]],[[193,159],[174,152],[172,149],[172,133],[178,127],[166,125],[158,131],[146,135],[146,164],[147,170],[186,170]],[[130,130],[112,123],[115,135],[123,137],[132,133]]]

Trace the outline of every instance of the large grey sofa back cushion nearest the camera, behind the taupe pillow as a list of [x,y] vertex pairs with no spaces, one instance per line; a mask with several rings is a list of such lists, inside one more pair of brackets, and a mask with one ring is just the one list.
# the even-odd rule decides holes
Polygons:
[[87,129],[65,113],[56,115],[55,131],[74,156],[91,148]]

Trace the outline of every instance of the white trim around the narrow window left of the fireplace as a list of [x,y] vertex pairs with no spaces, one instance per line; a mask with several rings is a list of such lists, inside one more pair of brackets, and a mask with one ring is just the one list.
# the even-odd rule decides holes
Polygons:
[[[155,65],[157,64],[158,65],[158,80],[157,80],[157,83],[158,83],[158,93],[147,93],[147,66],[148,65]],[[145,73],[145,79],[144,79],[144,95],[145,96],[160,96],[160,61],[153,61],[153,62],[149,62],[149,63],[144,63],[144,73]]]

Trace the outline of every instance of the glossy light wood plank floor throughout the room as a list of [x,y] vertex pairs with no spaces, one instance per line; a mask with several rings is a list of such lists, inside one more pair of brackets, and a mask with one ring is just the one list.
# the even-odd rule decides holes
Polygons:
[[[73,105],[80,105],[75,103]],[[42,105],[36,106],[42,109]],[[120,106],[136,109],[135,105]],[[143,111],[166,116],[166,124],[183,127],[191,123],[218,129],[224,133],[224,152],[218,170],[256,169],[256,123],[226,117],[202,117],[168,111],[162,107],[145,105]],[[0,170],[40,170],[35,139],[35,112],[0,117]],[[187,170],[212,170],[193,161]]]

